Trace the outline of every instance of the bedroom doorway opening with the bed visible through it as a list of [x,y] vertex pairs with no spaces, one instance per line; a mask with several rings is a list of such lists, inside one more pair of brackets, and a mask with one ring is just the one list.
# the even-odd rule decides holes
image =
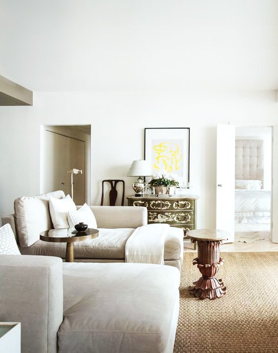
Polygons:
[[271,179],[272,127],[236,127],[236,242],[270,242]]

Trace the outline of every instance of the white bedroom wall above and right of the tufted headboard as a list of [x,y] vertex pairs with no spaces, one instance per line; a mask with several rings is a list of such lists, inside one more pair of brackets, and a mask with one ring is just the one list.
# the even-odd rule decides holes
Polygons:
[[237,127],[236,138],[263,140],[263,188],[271,190],[272,128]]

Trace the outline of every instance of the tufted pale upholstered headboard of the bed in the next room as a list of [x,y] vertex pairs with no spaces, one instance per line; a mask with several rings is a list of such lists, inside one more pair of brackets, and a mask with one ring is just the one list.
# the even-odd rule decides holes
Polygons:
[[236,139],[235,179],[263,183],[263,140]]

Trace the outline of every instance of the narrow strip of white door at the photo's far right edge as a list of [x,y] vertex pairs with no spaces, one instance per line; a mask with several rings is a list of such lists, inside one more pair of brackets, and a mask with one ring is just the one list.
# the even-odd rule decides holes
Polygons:
[[272,202],[271,202],[271,240],[278,243],[278,126],[272,129]]

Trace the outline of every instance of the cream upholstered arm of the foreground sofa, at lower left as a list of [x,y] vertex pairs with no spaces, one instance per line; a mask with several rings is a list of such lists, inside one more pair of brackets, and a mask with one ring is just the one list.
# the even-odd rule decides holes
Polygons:
[[62,260],[0,255],[0,318],[21,322],[22,353],[57,352],[63,321]]

